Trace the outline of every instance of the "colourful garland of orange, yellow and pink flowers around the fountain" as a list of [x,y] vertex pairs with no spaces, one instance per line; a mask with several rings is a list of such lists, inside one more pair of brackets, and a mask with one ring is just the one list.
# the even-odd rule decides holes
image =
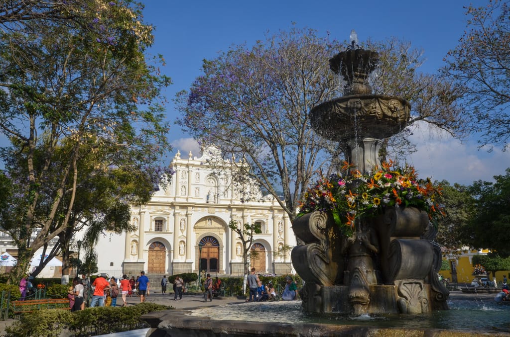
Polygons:
[[[429,178],[419,180],[413,166],[396,167],[392,161],[381,166],[365,175],[359,171],[330,177],[321,174],[319,181],[305,192],[298,216],[331,211],[342,232],[352,235],[356,219],[381,214],[386,207],[412,206],[426,211],[437,227],[444,216],[438,203],[441,188],[433,186]],[[347,172],[350,167],[345,163],[342,170]]]

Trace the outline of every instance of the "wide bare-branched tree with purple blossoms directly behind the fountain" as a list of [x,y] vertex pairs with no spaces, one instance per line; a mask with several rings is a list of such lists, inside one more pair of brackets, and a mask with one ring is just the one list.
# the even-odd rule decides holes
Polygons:
[[[189,92],[177,95],[183,113],[177,123],[202,144],[221,148],[226,157],[242,158],[239,176],[272,194],[292,221],[317,173],[339,171],[341,166],[338,144],[318,137],[308,114],[339,96],[328,60],[344,46],[296,28],[251,48],[234,46],[203,61],[203,74]],[[418,73],[419,52],[395,39],[367,46],[381,54],[376,93],[411,100],[412,123],[425,121],[455,134],[461,130],[454,93],[447,82]]]

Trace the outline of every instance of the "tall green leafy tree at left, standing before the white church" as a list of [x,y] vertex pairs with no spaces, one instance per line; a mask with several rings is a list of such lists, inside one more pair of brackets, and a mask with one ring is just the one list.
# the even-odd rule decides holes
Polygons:
[[[145,55],[152,27],[131,1],[82,4],[86,29],[34,20],[0,32],[0,130],[11,142],[0,155],[16,191],[2,218],[18,247],[12,280],[50,240],[68,249],[82,216],[110,229],[118,207],[147,201],[169,150],[161,89],[170,80]],[[80,204],[88,192],[108,202]]]

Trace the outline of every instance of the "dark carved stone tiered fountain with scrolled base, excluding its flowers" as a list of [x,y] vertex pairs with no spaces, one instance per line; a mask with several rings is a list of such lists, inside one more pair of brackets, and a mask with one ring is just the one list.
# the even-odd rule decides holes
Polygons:
[[[310,111],[312,127],[339,142],[351,170],[380,167],[382,139],[406,126],[406,100],[373,95],[368,78],[378,53],[355,41],[329,60],[346,85],[344,94]],[[399,206],[361,219],[351,237],[342,234],[333,215],[313,212],[293,223],[305,244],[292,250],[292,263],[305,281],[303,308],[315,313],[421,314],[448,310],[449,292],[439,282],[441,249],[428,214]]]

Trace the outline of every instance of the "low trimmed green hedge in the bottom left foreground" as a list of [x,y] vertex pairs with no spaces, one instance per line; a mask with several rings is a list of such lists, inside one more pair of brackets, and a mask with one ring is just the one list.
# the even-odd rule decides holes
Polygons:
[[74,335],[107,334],[134,330],[145,326],[140,316],[154,311],[169,310],[169,306],[140,303],[130,307],[93,307],[71,313],[68,310],[39,310],[22,315],[6,328],[11,336],[46,337],[59,336],[68,327]]

